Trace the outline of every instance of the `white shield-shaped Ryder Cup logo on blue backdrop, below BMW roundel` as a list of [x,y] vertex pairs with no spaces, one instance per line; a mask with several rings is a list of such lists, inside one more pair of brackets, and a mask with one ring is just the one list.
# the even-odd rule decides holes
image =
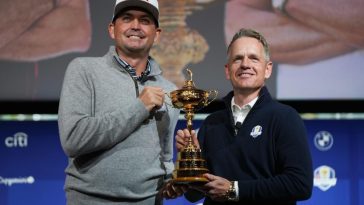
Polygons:
[[322,191],[327,191],[335,186],[337,178],[335,177],[335,170],[329,166],[323,165],[315,169],[313,185]]

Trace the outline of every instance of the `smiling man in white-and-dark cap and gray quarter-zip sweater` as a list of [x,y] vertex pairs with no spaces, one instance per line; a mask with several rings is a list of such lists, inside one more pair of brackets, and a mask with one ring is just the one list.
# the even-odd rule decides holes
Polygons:
[[176,87],[149,56],[158,16],[157,0],[117,0],[115,46],[68,65],[58,120],[68,205],[161,204],[182,194],[167,182],[179,110],[164,93]]

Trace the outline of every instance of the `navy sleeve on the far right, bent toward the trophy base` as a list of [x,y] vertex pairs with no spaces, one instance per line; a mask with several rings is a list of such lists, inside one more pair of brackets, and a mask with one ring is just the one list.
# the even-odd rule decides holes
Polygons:
[[[276,113],[277,114],[277,113]],[[298,113],[286,109],[274,119],[276,175],[250,181],[238,181],[239,198],[247,201],[297,201],[311,196],[312,159],[306,129]]]

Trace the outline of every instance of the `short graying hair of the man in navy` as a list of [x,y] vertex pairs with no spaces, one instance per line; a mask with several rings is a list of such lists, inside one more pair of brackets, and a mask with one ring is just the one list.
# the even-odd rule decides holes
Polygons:
[[238,32],[236,32],[228,46],[227,53],[229,53],[231,45],[241,37],[251,37],[251,38],[257,39],[263,45],[265,59],[267,61],[270,60],[270,51],[269,51],[269,45],[267,43],[267,40],[265,40],[265,38],[262,34],[258,33],[257,31],[254,31],[252,29],[242,28]]

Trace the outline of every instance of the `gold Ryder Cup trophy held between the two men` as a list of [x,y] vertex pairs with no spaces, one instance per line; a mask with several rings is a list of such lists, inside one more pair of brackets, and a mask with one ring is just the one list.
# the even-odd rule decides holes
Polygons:
[[[192,81],[191,70],[186,70],[190,80],[186,80],[181,89],[172,91],[169,97],[175,108],[182,109],[185,112],[187,129],[191,133],[194,113],[211,103],[217,97],[217,91],[196,89]],[[205,183],[208,180],[203,177],[203,174],[208,172],[206,161],[201,156],[201,149],[193,144],[190,137],[188,144],[178,153],[176,169],[173,171],[174,182],[181,184]]]

